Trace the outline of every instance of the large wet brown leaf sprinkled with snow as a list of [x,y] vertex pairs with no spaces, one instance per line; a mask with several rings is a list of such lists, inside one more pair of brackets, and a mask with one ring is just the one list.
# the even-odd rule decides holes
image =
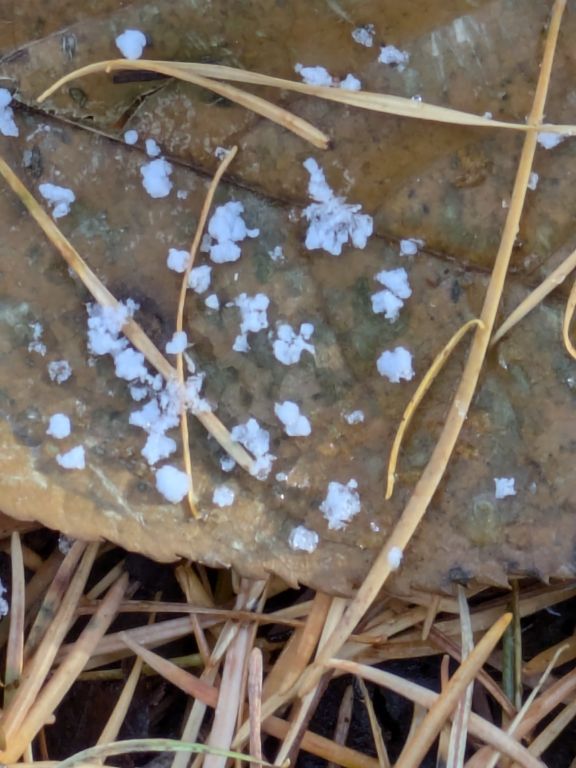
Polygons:
[[[15,517],[80,538],[108,538],[158,559],[232,564],[248,575],[275,572],[346,593],[398,519],[442,426],[463,350],[421,408],[396,492],[385,502],[386,462],[415,382],[450,336],[480,312],[521,137],[266,93],[329,133],[333,146],[321,153],[240,107],[172,81],[115,83],[99,76],[78,81],[82,96],[64,90],[46,110],[34,99],[64,72],[115,57],[115,35],[137,27],[147,33],[154,58],[208,59],[289,78],[296,77],[297,62],[321,64],[339,77],[354,73],[366,89],[522,121],[549,7],[484,2],[470,13],[463,2],[414,2],[386,16],[376,2],[265,6],[266,12],[251,3],[240,13],[224,2],[200,9],[172,3],[163,14],[161,4],[137,4],[107,15],[103,5],[100,19],[26,45],[18,39],[19,51],[0,63],[0,75],[18,88],[23,105],[16,116],[20,137],[2,140],[3,156],[34,192],[46,181],[75,191],[71,213],[60,220],[63,231],[115,296],[140,304],[137,319],[160,348],[174,330],[179,289],[178,276],[166,268],[168,249],[187,248],[192,239],[216,147],[239,145],[218,203],[241,201],[247,224],[260,236],[243,243],[238,262],[213,265],[210,291],[221,309],[208,309],[206,294],[191,294],[185,330],[219,418],[232,428],[254,417],[270,432],[277,457],[270,479],[259,482],[238,468],[224,473],[221,450],[193,420],[194,478],[205,519],[191,520],[184,506],[162,503],[140,454],[143,433],[128,421],[138,406],[109,359],[89,360],[88,295],[3,188],[2,505]],[[351,37],[366,23],[377,31],[373,48]],[[554,70],[548,116],[556,122],[573,121],[570,98],[561,99],[573,24],[572,12]],[[64,45],[72,39],[73,50]],[[378,45],[385,43],[410,52],[404,72],[377,63]],[[124,144],[127,128],[138,131],[138,146]],[[141,185],[140,167],[148,161],[141,143],[149,137],[174,163],[174,189],[164,199],[152,200]],[[540,183],[529,193],[503,316],[573,238],[574,146],[567,141],[538,153]],[[374,216],[376,235],[366,249],[346,246],[334,257],[304,248],[300,213],[309,199],[302,162],[311,156],[337,194]],[[404,256],[401,237],[426,245]],[[277,246],[282,261],[270,256]],[[412,296],[392,323],[372,311],[371,296],[382,289],[375,275],[399,267],[408,272]],[[242,293],[270,300],[269,328],[248,335],[246,354],[232,348],[240,313],[227,306]],[[398,588],[447,588],[454,579],[500,584],[522,573],[573,575],[575,368],[562,347],[562,309],[559,291],[488,359],[449,472],[396,577]],[[45,357],[29,351],[34,323],[44,327]],[[279,323],[312,323],[314,356],[305,352],[296,365],[280,363],[269,336]],[[393,384],[378,374],[376,360],[400,345],[412,352],[416,377]],[[58,385],[47,364],[60,359],[69,361],[73,375]],[[298,402],[309,418],[309,437],[284,434],[274,405],[285,400]],[[364,422],[349,424],[345,414],[357,409]],[[64,445],[46,435],[55,412],[73,422]],[[56,454],[78,443],[86,448],[87,468],[66,472]],[[286,479],[276,479],[278,473]],[[516,495],[496,499],[496,477],[514,477]],[[328,484],[351,479],[361,511],[345,529],[331,530],[320,510]],[[232,507],[212,503],[221,483],[236,493]],[[312,554],[289,546],[300,524],[319,534]]]

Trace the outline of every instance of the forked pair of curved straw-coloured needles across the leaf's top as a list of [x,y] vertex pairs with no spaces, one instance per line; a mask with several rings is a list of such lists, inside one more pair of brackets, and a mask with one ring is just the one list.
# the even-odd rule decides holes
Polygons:
[[[108,61],[99,61],[89,64],[80,69],[64,75],[56,83],[47,88],[39,97],[38,101],[43,102],[55,91],[61,88],[71,80],[85,75],[96,74],[99,72],[114,72],[118,70],[138,69],[147,72],[158,72],[159,74],[175,77],[179,80],[201,85],[204,88],[226,96],[231,101],[235,101],[242,106],[252,109],[264,117],[283,125],[288,130],[297,133],[302,138],[310,141],[315,146],[325,149],[327,146],[327,137],[325,134],[313,128],[309,123],[295,117],[285,110],[280,116],[276,114],[279,107],[275,107],[269,102],[259,99],[252,94],[245,94],[243,91],[233,86],[220,85],[215,80],[232,80],[233,82],[243,83],[245,85],[262,85],[273,88],[281,88],[285,91],[294,91],[304,93],[308,96],[335,101],[340,104],[347,104],[360,109],[367,109],[373,112],[384,112],[399,117],[412,117],[420,120],[431,120],[438,123],[451,123],[453,125],[467,125],[480,128],[506,128],[515,131],[531,131],[538,128],[538,131],[549,133],[560,133],[565,136],[576,135],[576,125],[544,125],[535,124],[530,121],[526,123],[508,123],[501,120],[491,120],[490,118],[480,117],[468,112],[462,112],[449,107],[439,107],[434,104],[412,101],[402,96],[391,96],[384,93],[372,93],[370,91],[349,91],[345,88],[330,88],[326,86],[308,85],[307,83],[286,80],[281,77],[272,77],[262,75],[259,72],[250,72],[248,70],[236,69],[235,67],[226,67],[220,64],[197,64],[193,62],[179,61],[152,61],[147,59],[138,59],[127,61],[126,59],[110,59]],[[223,88],[229,88],[231,91],[224,92]],[[252,100],[257,100],[252,102]],[[267,106],[267,109],[264,107]],[[287,121],[289,116],[289,122]],[[285,122],[286,121],[286,122]],[[305,127],[301,124],[304,123]]]

